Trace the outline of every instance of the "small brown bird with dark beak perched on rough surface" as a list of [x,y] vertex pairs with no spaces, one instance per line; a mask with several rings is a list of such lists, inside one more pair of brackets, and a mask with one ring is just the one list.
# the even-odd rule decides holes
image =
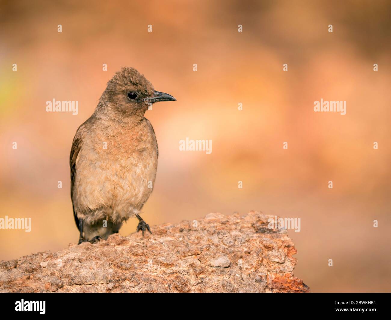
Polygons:
[[144,114],[160,101],[176,99],[155,91],[135,68],[122,67],[77,129],[69,163],[79,244],[107,240],[133,217],[139,221],[136,232],[152,234],[140,211],[152,193],[159,150]]

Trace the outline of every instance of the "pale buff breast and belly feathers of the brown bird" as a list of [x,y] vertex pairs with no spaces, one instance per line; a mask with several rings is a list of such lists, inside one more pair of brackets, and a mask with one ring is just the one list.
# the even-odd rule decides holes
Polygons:
[[119,222],[138,213],[152,192],[157,164],[156,138],[148,120],[131,130],[94,127],[83,137],[76,159],[77,216],[109,216]]

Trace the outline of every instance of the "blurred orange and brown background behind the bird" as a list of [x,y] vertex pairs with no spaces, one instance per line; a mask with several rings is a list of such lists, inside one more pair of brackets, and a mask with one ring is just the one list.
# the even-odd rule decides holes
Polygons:
[[[72,139],[132,66],[178,100],[145,115],[159,144],[147,223],[301,218],[294,274],[312,292],[391,291],[390,1],[0,3],[0,218],[32,219],[29,233],[0,230],[0,260],[78,240]],[[53,98],[79,114],[46,112]],[[315,113],[321,98],[346,100],[346,115]],[[212,154],[180,152],[187,137],[211,139]]]

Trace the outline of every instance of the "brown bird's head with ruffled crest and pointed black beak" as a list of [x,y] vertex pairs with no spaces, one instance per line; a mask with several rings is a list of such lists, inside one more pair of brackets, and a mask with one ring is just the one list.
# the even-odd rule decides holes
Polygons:
[[176,101],[167,93],[155,91],[151,82],[135,68],[121,68],[107,83],[102,100],[122,116],[143,116],[149,105],[159,101]]

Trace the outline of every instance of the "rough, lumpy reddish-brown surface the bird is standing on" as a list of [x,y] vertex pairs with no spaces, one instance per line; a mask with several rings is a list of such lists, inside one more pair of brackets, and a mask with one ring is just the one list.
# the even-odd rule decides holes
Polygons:
[[309,292],[296,249],[268,218],[210,213],[153,234],[112,235],[0,262],[0,292]]

